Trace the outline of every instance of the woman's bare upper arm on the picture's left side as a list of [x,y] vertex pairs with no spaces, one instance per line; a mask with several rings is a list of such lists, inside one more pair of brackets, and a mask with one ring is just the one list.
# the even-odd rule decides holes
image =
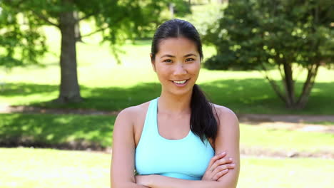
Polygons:
[[113,127],[113,150],[111,159],[112,188],[147,188],[136,184],[134,177],[135,142],[133,134],[133,107],[118,114]]

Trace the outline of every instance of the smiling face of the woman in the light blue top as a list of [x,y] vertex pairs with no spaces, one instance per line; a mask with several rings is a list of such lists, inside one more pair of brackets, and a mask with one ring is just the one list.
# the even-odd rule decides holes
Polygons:
[[201,68],[196,43],[188,38],[167,38],[158,44],[152,61],[163,92],[184,95],[193,89]]

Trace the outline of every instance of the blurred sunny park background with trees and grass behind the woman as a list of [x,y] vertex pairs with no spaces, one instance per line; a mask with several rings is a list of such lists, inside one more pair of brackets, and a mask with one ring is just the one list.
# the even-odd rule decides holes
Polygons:
[[241,122],[238,187],[333,187],[334,1],[0,0],[0,188],[110,187],[116,115],[160,94],[151,38],[174,18]]

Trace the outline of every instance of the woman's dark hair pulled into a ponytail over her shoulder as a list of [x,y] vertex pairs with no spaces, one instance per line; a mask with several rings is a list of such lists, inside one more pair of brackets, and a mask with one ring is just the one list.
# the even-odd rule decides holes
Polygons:
[[[196,28],[188,21],[172,19],[161,24],[154,33],[151,47],[152,61],[158,53],[158,44],[167,38],[184,37],[196,43],[201,60],[203,59],[201,38]],[[213,104],[206,99],[203,91],[198,85],[193,85],[191,95],[191,131],[198,135],[203,141],[204,138],[216,139],[217,120],[213,115]]]

